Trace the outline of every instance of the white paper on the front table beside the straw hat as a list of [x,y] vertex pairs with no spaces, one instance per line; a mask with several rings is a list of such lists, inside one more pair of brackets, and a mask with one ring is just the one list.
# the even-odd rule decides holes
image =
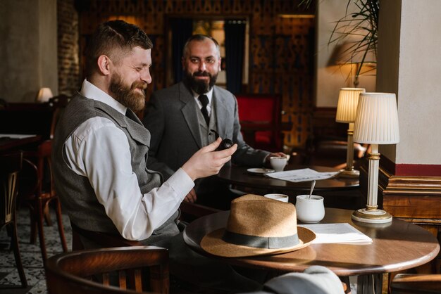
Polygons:
[[372,239],[348,223],[337,224],[299,224],[316,234],[312,243],[370,244]]

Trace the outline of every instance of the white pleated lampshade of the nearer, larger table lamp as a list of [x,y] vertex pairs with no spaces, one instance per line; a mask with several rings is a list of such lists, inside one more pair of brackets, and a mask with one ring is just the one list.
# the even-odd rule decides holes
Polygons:
[[392,93],[361,93],[354,124],[354,142],[399,142],[397,99]]

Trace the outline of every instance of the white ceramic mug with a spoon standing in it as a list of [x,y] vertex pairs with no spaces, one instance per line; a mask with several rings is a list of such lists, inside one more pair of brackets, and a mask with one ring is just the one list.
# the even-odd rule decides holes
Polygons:
[[317,195],[299,195],[296,197],[296,213],[300,222],[313,224],[320,222],[325,217],[323,197]]

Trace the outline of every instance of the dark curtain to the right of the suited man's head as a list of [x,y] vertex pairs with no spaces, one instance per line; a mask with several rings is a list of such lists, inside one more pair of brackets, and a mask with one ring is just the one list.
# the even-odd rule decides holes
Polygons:
[[227,89],[232,94],[242,91],[246,20],[225,20],[225,70]]

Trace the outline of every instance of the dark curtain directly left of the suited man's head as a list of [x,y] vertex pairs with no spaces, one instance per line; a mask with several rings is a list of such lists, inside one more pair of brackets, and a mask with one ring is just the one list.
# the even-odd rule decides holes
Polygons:
[[193,20],[191,18],[175,18],[170,20],[171,25],[171,46],[172,62],[175,83],[182,80],[182,49],[185,41],[192,36]]

